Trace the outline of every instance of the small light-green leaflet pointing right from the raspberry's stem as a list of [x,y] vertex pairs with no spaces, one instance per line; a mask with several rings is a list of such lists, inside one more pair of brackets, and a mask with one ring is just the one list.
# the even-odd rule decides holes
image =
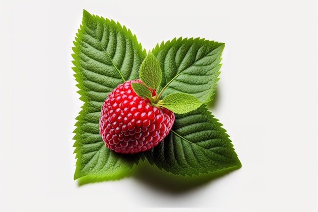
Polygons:
[[197,109],[202,103],[192,95],[173,93],[166,96],[161,105],[174,113],[182,114]]

